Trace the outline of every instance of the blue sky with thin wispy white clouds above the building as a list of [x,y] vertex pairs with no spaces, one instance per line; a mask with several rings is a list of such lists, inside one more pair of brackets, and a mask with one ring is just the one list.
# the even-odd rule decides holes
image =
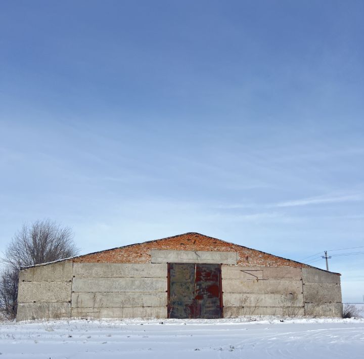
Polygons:
[[320,268],[329,250],[362,302],[364,254],[337,254],[364,252],[363,16],[2,2],[0,252],[43,218],[80,253],[199,232]]

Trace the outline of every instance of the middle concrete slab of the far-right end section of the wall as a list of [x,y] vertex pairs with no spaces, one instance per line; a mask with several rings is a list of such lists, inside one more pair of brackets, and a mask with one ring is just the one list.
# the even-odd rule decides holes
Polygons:
[[308,303],[341,302],[341,290],[338,284],[309,283],[303,285],[303,295]]

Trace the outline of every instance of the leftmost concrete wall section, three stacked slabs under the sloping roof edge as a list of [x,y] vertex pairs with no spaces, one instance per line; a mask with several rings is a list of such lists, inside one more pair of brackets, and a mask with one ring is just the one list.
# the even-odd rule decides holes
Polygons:
[[23,269],[17,321],[71,317],[72,260]]

